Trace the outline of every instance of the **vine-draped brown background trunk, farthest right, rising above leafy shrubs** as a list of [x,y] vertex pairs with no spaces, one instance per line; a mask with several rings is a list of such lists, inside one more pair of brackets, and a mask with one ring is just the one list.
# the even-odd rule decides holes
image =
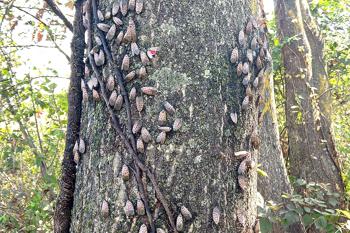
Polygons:
[[[324,41],[306,0],[276,0],[276,22],[286,85],[290,171],[295,179],[329,183],[342,193],[344,183],[334,140],[332,102]],[[344,199],[339,199],[343,206]]]

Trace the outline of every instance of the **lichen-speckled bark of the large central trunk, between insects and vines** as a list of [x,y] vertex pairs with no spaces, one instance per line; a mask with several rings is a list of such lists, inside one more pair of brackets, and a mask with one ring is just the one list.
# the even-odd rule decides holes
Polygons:
[[[111,2],[98,2],[103,13],[111,11],[111,7]],[[257,2],[250,0],[145,1],[140,15],[129,12],[123,17],[118,13],[124,24],[117,28],[116,36],[120,30],[125,32],[128,20],[133,19],[139,49],[161,47],[151,66],[146,67],[146,79],[135,77],[125,87],[128,92],[135,87],[137,95],[141,95],[143,86],[160,90],[156,96],[142,94],[141,113],[135,101],[131,101],[132,124],[142,119],[153,137],[151,143],[145,144],[145,153],[138,156],[153,172],[173,217],[176,219],[180,214],[182,205],[192,213],[193,219],[184,221],[184,232],[243,231],[237,221],[239,207],[245,212],[246,226],[252,226],[256,218],[256,170],[246,170],[246,186],[242,191],[237,184],[241,160],[234,157],[236,151],[251,149],[250,132],[257,124],[258,113],[256,89],[253,88],[253,102],[242,111],[240,104],[245,89],[242,78],[236,78],[236,67],[230,64],[230,54],[236,46],[240,49],[240,58],[244,57],[242,51],[248,43],[238,45],[237,36],[252,14],[257,15]],[[113,21],[104,22],[111,25]],[[93,33],[97,35],[95,26]],[[251,38],[248,36],[246,40],[250,43]],[[115,65],[120,68],[124,55],[131,56],[130,43],[119,46],[114,38],[109,44]],[[138,73],[139,57],[130,57],[130,63],[131,70]],[[105,83],[114,75],[109,65],[99,69]],[[125,202],[130,200],[136,207],[140,194],[133,174],[128,182],[121,179],[124,161],[112,145],[126,157],[130,167],[133,168],[134,163],[119,134],[111,127],[106,103],[94,101],[88,92],[89,102],[83,104],[81,124],[86,151],[77,170],[71,232],[138,232],[142,224],[150,229],[147,216],[125,215]],[[108,92],[107,96],[110,95]],[[175,115],[167,114],[167,124],[172,125],[173,120],[180,117],[183,125],[178,131],[167,133],[166,143],[159,145],[155,138],[160,132],[157,121],[164,101],[176,108]],[[238,113],[237,125],[229,118],[234,110]],[[114,112],[130,139],[125,104]],[[256,160],[256,153],[253,159]],[[141,175],[155,226],[171,232],[152,184],[144,173]],[[104,198],[110,207],[106,219],[101,215]],[[215,206],[221,211],[218,226],[212,220]]]

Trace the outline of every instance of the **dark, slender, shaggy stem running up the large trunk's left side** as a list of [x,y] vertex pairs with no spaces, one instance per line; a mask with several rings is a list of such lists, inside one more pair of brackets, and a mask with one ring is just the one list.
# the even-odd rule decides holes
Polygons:
[[62,178],[54,213],[54,233],[66,233],[70,230],[73,192],[75,189],[76,164],[73,161],[73,147],[79,138],[80,117],[82,115],[82,91],[80,80],[84,76],[84,27],[81,23],[82,0],[75,2],[73,39],[71,44],[71,75],[68,90],[68,119],[66,145],[62,161]]

